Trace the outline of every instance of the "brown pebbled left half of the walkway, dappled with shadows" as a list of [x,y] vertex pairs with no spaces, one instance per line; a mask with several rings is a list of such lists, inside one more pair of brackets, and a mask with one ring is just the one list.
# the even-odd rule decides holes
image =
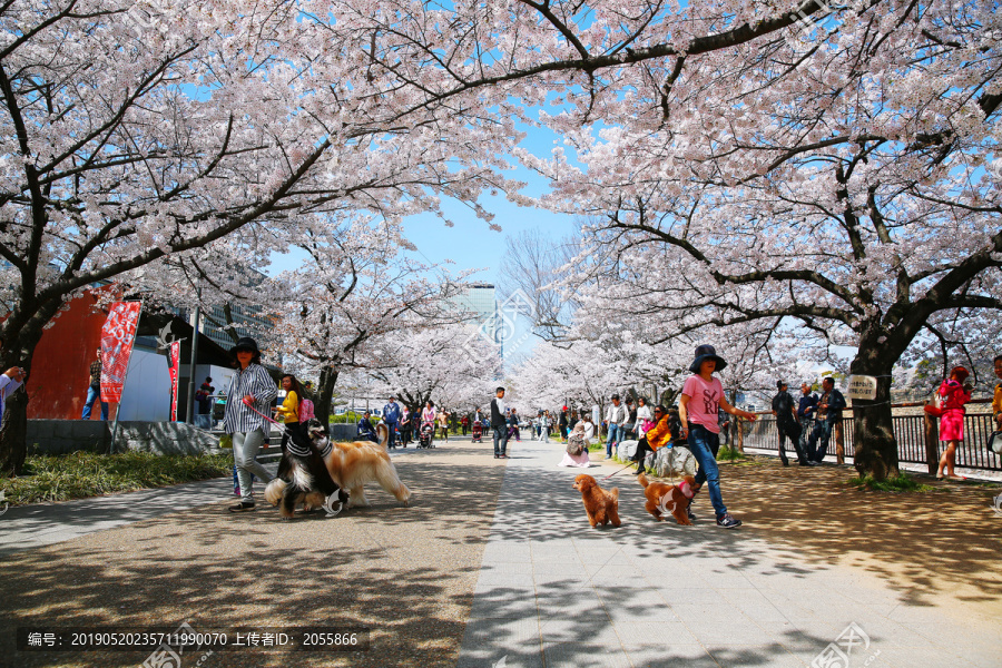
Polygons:
[[375,485],[371,508],[331,519],[284,521],[267,505],[234,515],[220,500],[13,554],[0,567],[0,656],[136,666],[149,652],[14,654],[16,629],[187,621],[372,629],[367,652],[226,651],[204,666],[454,666],[503,465],[470,449],[439,453],[394,458],[410,508]]

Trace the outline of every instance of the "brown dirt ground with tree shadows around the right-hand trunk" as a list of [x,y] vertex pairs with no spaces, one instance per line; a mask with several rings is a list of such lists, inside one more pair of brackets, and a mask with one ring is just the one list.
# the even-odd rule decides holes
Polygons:
[[807,559],[862,569],[905,601],[1002,617],[1002,485],[916,477],[935,491],[888,493],[845,484],[849,466],[782,466],[776,458],[721,462],[727,505],[748,530]]

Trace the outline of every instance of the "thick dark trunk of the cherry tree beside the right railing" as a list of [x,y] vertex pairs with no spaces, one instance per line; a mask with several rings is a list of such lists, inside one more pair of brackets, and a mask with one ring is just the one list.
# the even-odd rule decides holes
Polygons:
[[877,381],[872,401],[853,400],[854,466],[859,475],[872,475],[875,480],[898,475],[897,439],[891,420],[891,370],[896,358],[881,347],[861,344],[849,366],[853,374],[876,376]]

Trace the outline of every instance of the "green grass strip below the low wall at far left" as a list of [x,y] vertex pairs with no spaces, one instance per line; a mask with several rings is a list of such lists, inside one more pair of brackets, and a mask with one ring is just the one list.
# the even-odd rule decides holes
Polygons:
[[233,455],[159,455],[128,451],[120,454],[75,452],[60,456],[29,456],[24,474],[0,480],[11,505],[67,501],[168,487],[226,475]]

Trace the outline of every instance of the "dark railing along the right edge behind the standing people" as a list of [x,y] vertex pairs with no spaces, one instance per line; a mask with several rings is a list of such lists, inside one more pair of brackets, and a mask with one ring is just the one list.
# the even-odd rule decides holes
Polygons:
[[[981,403],[979,401],[972,403]],[[894,407],[915,404],[894,404]],[[922,404],[918,404],[922,405]],[[855,436],[853,434],[852,409],[846,409],[843,422],[843,439],[845,442],[845,456],[853,456],[855,452]],[[769,415],[766,413],[766,415]],[[929,425],[925,415],[895,415],[892,419],[894,438],[897,440],[897,459],[901,462],[913,464],[927,464],[926,439]],[[935,428],[939,420],[933,418]],[[982,469],[988,471],[1002,471],[1002,458],[988,449],[989,438],[992,435],[992,416],[988,413],[967,414],[964,416],[964,440],[956,448],[956,465],[966,469]],[[759,450],[779,450],[776,419],[759,418],[754,423],[743,422],[744,445]],[[937,434],[936,430],[929,436]],[[828,442],[828,454],[835,452],[835,433]],[[937,452],[942,453],[944,445],[940,444]],[[786,451],[792,453],[793,446],[787,442]],[[939,455],[937,455],[939,456]],[[933,464],[934,465],[934,464]],[[932,472],[932,471],[930,471]]]

